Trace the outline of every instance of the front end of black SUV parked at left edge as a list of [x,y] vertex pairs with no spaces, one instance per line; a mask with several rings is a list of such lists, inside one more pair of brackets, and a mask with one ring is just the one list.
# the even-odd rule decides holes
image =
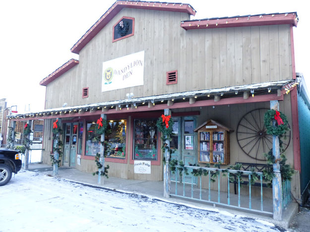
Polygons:
[[21,160],[18,151],[0,148],[0,186],[10,181],[12,173],[21,169]]

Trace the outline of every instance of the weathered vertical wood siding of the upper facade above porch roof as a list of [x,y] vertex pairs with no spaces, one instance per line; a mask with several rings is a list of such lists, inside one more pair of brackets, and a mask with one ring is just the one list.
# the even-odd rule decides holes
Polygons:
[[[135,18],[134,36],[112,43],[112,27]],[[186,13],[123,9],[79,54],[79,64],[47,86],[46,108],[292,78],[290,26],[184,30]],[[101,92],[102,63],[145,51],[144,85]],[[166,72],[178,83],[166,85]],[[82,88],[89,97],[82,98]]]

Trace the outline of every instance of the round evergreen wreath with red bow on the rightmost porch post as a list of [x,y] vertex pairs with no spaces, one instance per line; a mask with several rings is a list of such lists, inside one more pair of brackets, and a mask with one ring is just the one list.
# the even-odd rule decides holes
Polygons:
[[[275,126],[273,125],[273,120],[276,120]],[[264,116],[264,124],[267,129],[267,134],[275,136],[281,136],[289,130],[288,120],[280,111],[268,110]]]

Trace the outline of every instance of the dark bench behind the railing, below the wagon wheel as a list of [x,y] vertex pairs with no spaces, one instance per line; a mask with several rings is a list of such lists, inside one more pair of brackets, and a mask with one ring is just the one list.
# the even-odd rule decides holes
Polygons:
[[[264,170],[270,171],[272,168],[272,165],[267,165],[267,164],[253,164],[253,163],[241,163],[241,162],[236,162],[237,164],[241,164],[240,171],[253,171],[253,172],[260,172],[262,173]],[[240,181],[240,184],[247,184],[248,185],[248,174],[241,174],[242,181]],[[259,186],[260,187],[260,179],[257,180],[258,182],[253,183],[251,186]],[[235,194],[237,194],[237,184],[238,184],[238,178],[235,176],[234,181],[229,180],[230,183],[234,184],[234,190]],[[272,187],[272,184],[266,184],[262,183],[262,187]]]

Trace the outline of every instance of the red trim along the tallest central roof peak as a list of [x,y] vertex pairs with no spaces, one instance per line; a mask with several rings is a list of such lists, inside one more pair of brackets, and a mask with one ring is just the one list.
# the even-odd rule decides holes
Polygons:
[[104,28],[123,8],[137,8],[149,10],[164,10],[184,12],[195,15],[196,11],[190,4],[151,2],[151,1],[116,1],[91,27],[89,30],[73,45],[70,49],[72,53],[79,54],[85,45],[94,38],[99,31]]

